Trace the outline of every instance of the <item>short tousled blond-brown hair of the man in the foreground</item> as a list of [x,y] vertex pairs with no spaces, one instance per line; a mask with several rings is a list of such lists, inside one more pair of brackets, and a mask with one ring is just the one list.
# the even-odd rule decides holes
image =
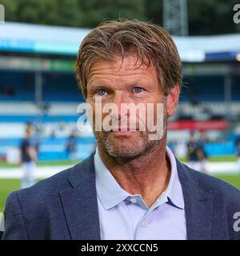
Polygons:
[[148,66],[153,64],[158,81],[167,95],[182,84],[182,62],[170,34],[161,26],[138,20],[103,22],[86,35],[78,50],[76,78],[83,96],[87,97],[90,69],[98,60],[112,60],[134,52]]

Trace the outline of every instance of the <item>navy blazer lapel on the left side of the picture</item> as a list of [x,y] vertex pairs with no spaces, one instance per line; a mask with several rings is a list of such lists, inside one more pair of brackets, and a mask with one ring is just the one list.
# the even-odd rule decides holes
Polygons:
[[73,167],[69,180],[72,187],[62,190],[59,194],[70,238],[73,240],[100,240],[94,154]]

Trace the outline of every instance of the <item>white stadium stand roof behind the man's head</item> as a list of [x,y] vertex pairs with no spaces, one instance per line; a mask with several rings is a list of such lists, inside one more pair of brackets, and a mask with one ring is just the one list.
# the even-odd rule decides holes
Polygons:
[[[90,29],[17,22],[0,24],[0,50],[77,54]],[[174,37],[182,62],[239,60],[240,34]]]

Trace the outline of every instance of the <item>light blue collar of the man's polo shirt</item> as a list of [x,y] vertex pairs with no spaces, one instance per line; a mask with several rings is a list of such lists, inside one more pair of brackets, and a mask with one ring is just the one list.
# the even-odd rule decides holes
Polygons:
[[[170,159],[170,181],[166,187],[166,191],[159,197],[158,203],[167,201],[172,206],[177,206],[180,209],[184,209],[182,186],[178,179],[176,159],[168,147],[166,147],[166,154]],[[110,170],[108,170],[108,168],[102,162],[102,158],[98,152],[98,147],[96,149],[96,153],[94,154],[94,166],[96,172],[96,189],[98,198],[106,210],[117,206],[119,203],[126,200],[126,198],[133,196],[132,194],[126,192],[126,190],[122,189],[122,187],[115,180],[114,176],[110,173]]]

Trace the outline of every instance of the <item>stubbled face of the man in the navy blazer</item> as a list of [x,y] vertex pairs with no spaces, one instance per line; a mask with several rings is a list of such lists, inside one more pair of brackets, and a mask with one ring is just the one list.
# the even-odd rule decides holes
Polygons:
[[[161,143],[161,139],[150,140],[149,134],[153,133],[146,127],[145,131],[139,130],[139,124],[142,123],[140,112],[136,112],[136,130],[130,130],[130,114],[126,114],[127,125],[125,130],[121,130],[121,105],[122,103],[153,103],[154,119],[156,118],[157,103],[164,103],[164,122],[166,123],[166,97],[163,97],[161,86],[158,82],[157,72],[154,66],[141,64],[134,54],[122,58],[115,57],[113,61],[99,60],[95,62],[90,70],[87,84],[87,102],[89,102],[94,111],[93,130],[101,147],[112,157],[136,158],[153,150]],[[118,111],[112,111],[112,118],[117,118],[119,130],[96,131],[95,127],[95,99],[101,97],[102,107],[106,103],[114,103],[118,106]],[[109,114],[109,113],[108,113]],[[107,114],[102,113],[102,119]],[[147,114],[146,114],[147,115]],[[147,116],[146,116],[147,120]],[[154,120],[155,121],[155,120]],[[145,122],[146,123],[146,122]],[[166,129],[166,124],[164,126]],[[163,136],[165,138],[165,136]]]

